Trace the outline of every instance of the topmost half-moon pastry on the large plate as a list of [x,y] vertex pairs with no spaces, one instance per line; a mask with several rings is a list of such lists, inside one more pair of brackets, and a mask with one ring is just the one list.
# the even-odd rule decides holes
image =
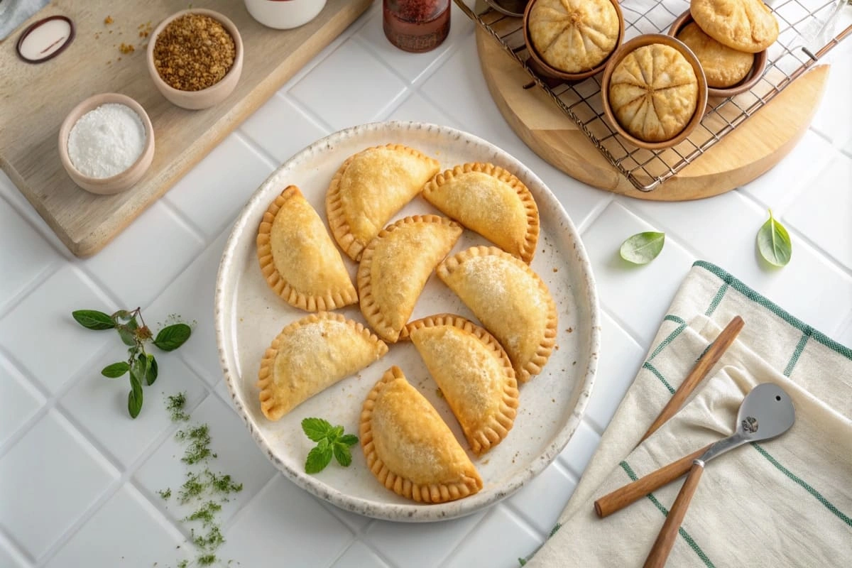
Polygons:
[[371,239],[439,169],[437,160],[402,144],[349,156],[325,194],[331,234],[343,252],[360,261]]

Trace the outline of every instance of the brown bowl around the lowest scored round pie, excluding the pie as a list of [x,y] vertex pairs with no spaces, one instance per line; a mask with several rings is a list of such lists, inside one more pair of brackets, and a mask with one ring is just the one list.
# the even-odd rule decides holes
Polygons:
[[[625,55],[629,54],[634,49],[639,49],[645,45],[651,45],[652,43],[662,43],[663,45],[668,45],[674,49],[677,49],[681,55],[683,55],[690,65],[693,67],[693,71],[695,72],[695,77],[698,79],[698,100],[696,101],[695,112],[693,113],[693,117],[689,120],[686,126],[673,138],[670,140],[659,141],[659,142],[648,142],[644,141],[641,138],[636,138],[636,136],[631,135],[626,129],[624,129],[619,121],[615,118],[615,114],[613,113],[613,108],[610,106],[609,102],[609,81],[613,77],[613,71],[615,67],[619,65],[621,60],[625,58]],[[676,39],[672,36],[667,36],[662,33],[646,33],[641,36],[636,36],[631,39],[629,42],[622,45],[619,49],[615,51],[615,53],[609,58],[607,61],[607,66],[603,70],[603,77],[601,79],[601,100],[603,103],[603,112],[607,116],[607,119],[610,124],[612,124],[613,129],[622,135],[627,141],[630,141],[634,146],[639,146],[640,148],[647,148],[648,150],[661,150],[663,148],[670,148],[671,146],[677,146],[682,141],[686,140],[688,135],[695,129],[696,126],[701,122],[701,118],[704,117],[705,108],[707,107],[707,79],[704,76],[704,69],[701,68],[701,64],[695,54],[692,52],[692,49],[689,49],[686,43],[683,43],[681,40]]]

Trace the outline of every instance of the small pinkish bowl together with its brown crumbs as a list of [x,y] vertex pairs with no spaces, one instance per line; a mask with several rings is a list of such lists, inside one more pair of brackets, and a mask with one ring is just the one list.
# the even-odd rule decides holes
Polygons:
[[147,66],[153,83],[176,106],[200,109],[230,95],[243,70],[237,26],[208,9],[181,10],[151,34]]

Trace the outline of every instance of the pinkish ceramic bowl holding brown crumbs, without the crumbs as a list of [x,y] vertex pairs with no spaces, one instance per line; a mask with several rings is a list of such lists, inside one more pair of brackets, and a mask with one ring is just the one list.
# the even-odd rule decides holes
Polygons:
[[[169,25],[170,21],[180,18],[185,14],[204,14],[206,16],[210,16],[210,18],[214,20],[217,20],[220,24],[222,24],[222,27],[227,30],[231,37],[233,37],[234,49],[236,52],[233,58],[233,65],[225,74],[225,77],[222,77],[218,83],[210,85],[207,89],[201,89],[199,91],[175,89],[169,83],[166,83],[163,80],[163,77],[159,76],[157,67],[154,66],[154,45],[157,43],[157,37],[160,32],[163,32],[165,26]],[[151,75],[154,85],[156,85],[159,92],[162,93],[166,99],[170,100],[172,104],[190,110],[208,108],[222,102],[222,100],[225,100],[227,95],[230,95],[233,89],[237,86],[237,83],[239,82],[239,75],[243,72],[243,40],[242,37],[239,36],[237,26],[234,26],[231,20],[228,20],[225,16],[218,12],[200,8],[181,10],[180,12],[176,12],[176,14],[171,14],[168,18],[161,21],[154,29],[151,34],[151,39],[148,41],[146,59],[148,73]]]

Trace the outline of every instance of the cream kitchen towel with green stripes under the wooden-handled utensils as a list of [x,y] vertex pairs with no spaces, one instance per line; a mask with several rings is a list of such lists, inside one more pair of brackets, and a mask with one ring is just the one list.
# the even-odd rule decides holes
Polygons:
[[[636,447],[735,315],[746,322],[737,341],[682,410]],[[780,438],[707,464],[667,565],[852,565],[852,350],[699,261],[568,501],[561,527],[527,568],[642,566],[683,478],[606,519],[592,503],[734,433],[742,399],[761,382],[790,394],[795,424]]]

